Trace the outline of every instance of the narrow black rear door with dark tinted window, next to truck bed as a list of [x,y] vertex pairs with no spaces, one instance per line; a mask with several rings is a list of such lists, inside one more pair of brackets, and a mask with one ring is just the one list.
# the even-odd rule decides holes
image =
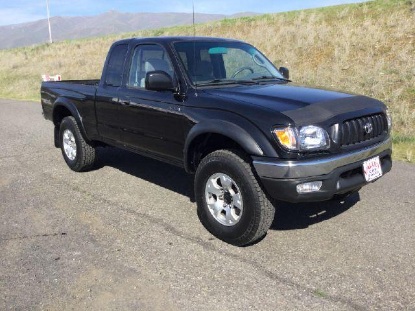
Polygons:
[[120,142],[118,92],[122,83],[128,44],[114,46],[108,55],[107,66],[95,95],[98,133],[103,138]]

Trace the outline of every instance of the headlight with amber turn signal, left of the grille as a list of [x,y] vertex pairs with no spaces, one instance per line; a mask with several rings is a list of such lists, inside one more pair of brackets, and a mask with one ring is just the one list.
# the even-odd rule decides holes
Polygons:
[[289,150],[321,150],[330,146],[327,131],[319,126],[307,125],[298,129],[291,126],[276,127],[273,134]]

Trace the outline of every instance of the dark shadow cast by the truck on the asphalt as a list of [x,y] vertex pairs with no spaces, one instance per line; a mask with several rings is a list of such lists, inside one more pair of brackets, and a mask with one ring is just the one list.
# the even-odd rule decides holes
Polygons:
[[[119,148],[98,148],[95,169],[110,166],[124,173],[146,180],[170,191],[184,195],[195,202],[193,176],[182,168],[153,160]],[[344,202],[325,201],[312,203],[276,202],[276,213],[271,230],[295,230],[328,220],[347,211],[359,202],[359,194]]]

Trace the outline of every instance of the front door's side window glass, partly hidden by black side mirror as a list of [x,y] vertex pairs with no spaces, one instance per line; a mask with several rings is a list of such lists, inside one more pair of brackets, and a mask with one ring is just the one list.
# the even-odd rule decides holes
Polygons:
[[146,73],[154,70],[163,70],[173,78],[173,66],[166,51],[156,44],[137,46],[132,56],[128,86],[144,88]]

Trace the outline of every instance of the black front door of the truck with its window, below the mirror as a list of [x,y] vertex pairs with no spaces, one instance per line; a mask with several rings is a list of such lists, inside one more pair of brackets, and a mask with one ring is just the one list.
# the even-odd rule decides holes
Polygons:
[[121,138],[125,145],[167,158],[183,160],[182,102],[171,91],[149,91],[148,71],[163,70],[174,80],[167,51],[158,44],[141,44],[132,52],[127,81],[120,89]]

